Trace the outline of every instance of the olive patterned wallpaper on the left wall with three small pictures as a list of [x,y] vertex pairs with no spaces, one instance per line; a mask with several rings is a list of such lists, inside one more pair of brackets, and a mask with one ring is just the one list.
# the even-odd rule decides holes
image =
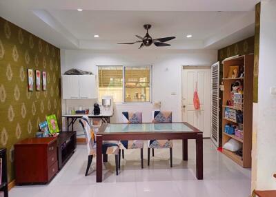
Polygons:
[[[14,179],[13,145],[34,137],[49,114],[56,114],[61,126],[59,53],[59,48],[0,17],[0,146],[7,148],[9,181]],[[28,92],[28,68],[46,71],[46,91],[35,90],[34,84]]]

